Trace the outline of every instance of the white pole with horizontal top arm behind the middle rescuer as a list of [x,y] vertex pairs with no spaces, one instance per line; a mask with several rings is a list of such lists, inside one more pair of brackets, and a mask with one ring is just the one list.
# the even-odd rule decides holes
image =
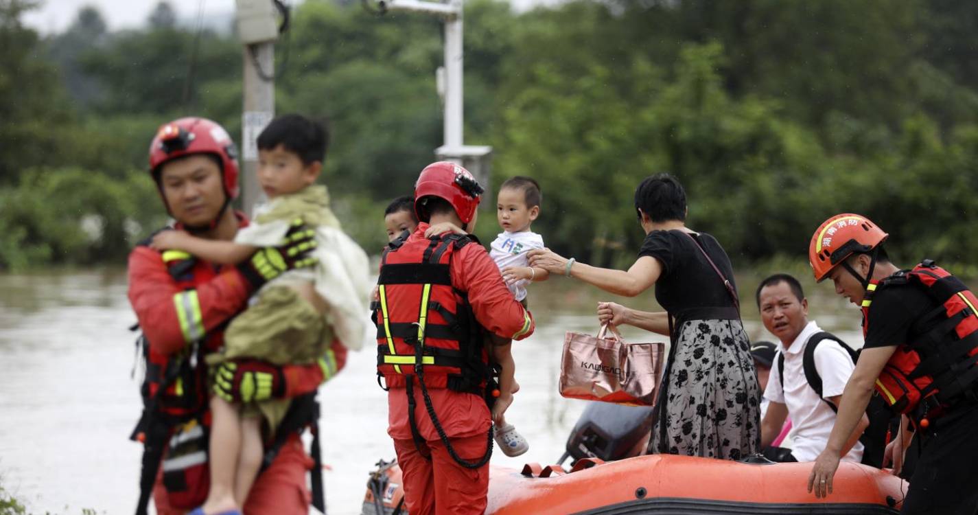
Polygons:
[[[444,103],[444,144],[435,149],[439,160],[462,164],[479,184],[489,187],[492,147],[465,145],[463,138],[462,0],[379,0],[381,9],[415,11],[440,17],[445,24],[445,67],[438,70],[438,92]],[[442,72],[443,71],[443,72]]]

